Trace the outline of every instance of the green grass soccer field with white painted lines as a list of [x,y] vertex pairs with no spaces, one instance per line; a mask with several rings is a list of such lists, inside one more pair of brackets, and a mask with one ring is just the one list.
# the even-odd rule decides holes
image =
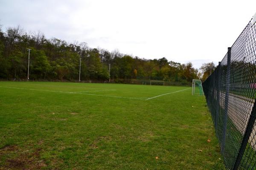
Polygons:
[[0,169],[224,169],[188,88],[0,82]]

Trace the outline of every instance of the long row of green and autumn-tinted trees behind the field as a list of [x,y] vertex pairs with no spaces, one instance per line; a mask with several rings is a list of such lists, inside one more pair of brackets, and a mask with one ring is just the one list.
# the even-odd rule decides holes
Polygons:
[[[170,82],[192,82],[198,70],[192,63],[180,64],[161,59],[141,59],[121,54],[118,50],[89,48],[86,42],[68,43],[57,38],[47,39],[43,33],[26,32],[20,26],[0,29],[0,79],[25,80],[79,79],[79,59],[81,58],[81,80],[105,81],[111,78],[139,79],[150,77]],[[111,71],[109,77],[109,64]]]

